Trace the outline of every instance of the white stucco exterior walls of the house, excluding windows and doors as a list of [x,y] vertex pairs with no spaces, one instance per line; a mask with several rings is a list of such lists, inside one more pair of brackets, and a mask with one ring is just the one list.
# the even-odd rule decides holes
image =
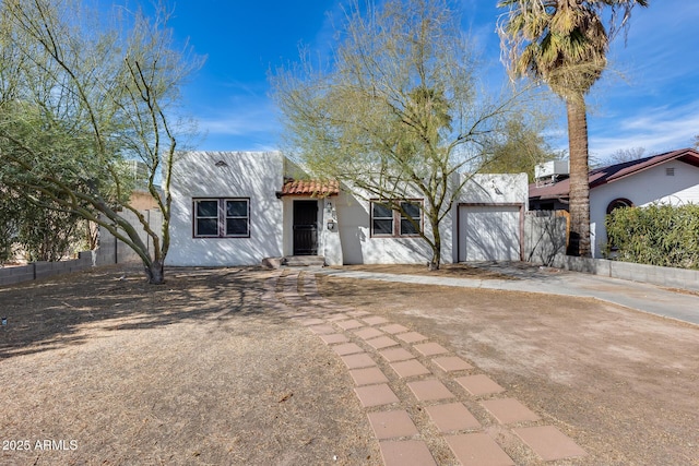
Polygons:
[[[293,254],[294,200],[276,198],[285,174],[283,156],[276,152],[192,152],[180,154],[173,170],[173,216],[167,265],[258,265],[264,258]],[[249,198],[249,238],[194,238],[193,199]],[[370,198],[370,196],[367,196]],[[411,195],[419,199],[418,195]],[[419,237],[371,237],[370,202],[342,187],[340,195],[319,199],[318,254],[329,265],[426,264],[431,248]],[[477,175],[470,180],[440,224],[441,259],[458,256],[459,206],[521,205],[526,210],[525,175]],[[497,211],[497,208],[496,208]],[[334,229],[328,222],[334,220]],[[424,220],[424,218],[423,218]],[[424,222],[428,236],[430,226]]]

